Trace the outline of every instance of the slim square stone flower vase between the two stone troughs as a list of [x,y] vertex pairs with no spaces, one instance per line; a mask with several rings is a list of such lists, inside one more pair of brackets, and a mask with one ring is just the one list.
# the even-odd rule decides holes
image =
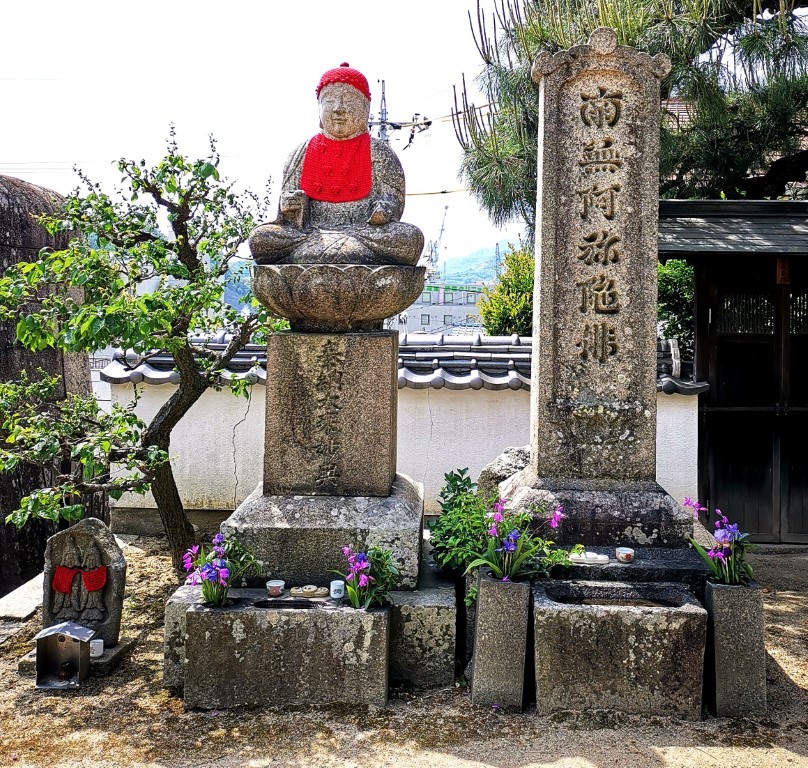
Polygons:
[[521,709],[530,583],[500,581],[480,570],[471,703]]

